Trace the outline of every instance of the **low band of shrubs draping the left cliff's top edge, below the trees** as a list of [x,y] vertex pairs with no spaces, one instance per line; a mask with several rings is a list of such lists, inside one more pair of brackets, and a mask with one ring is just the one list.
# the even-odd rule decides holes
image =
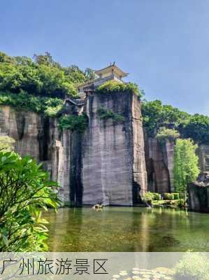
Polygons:
[[0,92],[0,105],[13,106],[17,110],[34,111],[45,113],[46,116],[57,116],[63,108],[64,100],[52,97],[39,97],[27,92],[19,94],[11,92]]

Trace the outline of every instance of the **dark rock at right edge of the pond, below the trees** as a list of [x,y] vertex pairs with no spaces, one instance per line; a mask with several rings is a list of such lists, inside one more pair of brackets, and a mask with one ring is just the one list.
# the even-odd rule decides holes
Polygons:
[[209,213],[209,172],[203,172],[188,186],[189,209]]

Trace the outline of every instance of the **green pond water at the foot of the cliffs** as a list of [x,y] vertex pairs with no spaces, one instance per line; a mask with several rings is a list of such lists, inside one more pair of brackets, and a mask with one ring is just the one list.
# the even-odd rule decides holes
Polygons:
[[59,209],[50,221],[50,251],[209,251],[209,215],[176,209]]

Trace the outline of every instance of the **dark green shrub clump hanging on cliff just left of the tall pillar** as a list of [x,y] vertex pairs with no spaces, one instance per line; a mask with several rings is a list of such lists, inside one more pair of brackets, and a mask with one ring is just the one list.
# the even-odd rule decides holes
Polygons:
[[79,133],[82,133],[87,127],[87,122],[88,119],[85,114],[82,114],[80,116],[62,116],[61,118],[59,118],[59,128],[64,130],[71,130],[72,132],[74,130],[77,130]]

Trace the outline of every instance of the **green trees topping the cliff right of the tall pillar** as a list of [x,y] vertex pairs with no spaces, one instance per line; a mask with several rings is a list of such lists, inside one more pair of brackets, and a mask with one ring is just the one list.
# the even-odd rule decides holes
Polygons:
[[[191,116],[173,106],[163,105],[159,100],[152,102],[144,101],[142,104],[142,115],[143,126],[150,137],[154,137],[157,132],[162,137],[161,127],[166,127],[167,129],[178,130],[184,138],[192,138],[196,142],[209,144],[208,116],[199,114]],[[168,131],[164,132],[168,133]],[[178,138],[177,132],[173,136]]]

